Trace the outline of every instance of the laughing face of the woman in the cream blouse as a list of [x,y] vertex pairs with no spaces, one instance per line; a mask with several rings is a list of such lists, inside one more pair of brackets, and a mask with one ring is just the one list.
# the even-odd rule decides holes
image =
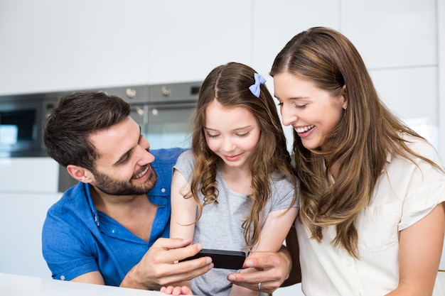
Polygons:
[[345,86],[341,94],[334,97],[310,80],[288,72],[274,75],[274,92],[284,126],[293,126],[308,149],[322,148],[326,136],[340,122],[343,108],[347,106]]

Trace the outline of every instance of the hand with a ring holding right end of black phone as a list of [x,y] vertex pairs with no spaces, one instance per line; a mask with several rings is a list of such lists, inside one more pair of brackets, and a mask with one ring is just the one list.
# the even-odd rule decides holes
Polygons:
[[262,292],[272,293],[289,277],[291,257],[284,246],[277,253],[254,252],[246,258],[242,268],[251,268],[252,271],[230,273],[227,280],[250,290],[260,288]]

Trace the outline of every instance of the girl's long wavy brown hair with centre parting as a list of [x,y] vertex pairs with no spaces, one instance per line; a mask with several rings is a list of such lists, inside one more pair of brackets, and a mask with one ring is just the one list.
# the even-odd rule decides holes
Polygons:
[[[191,150],[195,157],[195,166],[191,180],[191,193],[186,194],[186,198],[193,197],[198,204],[198,219],[205,204],[218,203],[216,170],[221,160],[208,148],[205,141],[204,125],[207,106],[217,100],[227,108],[243,107],[252,112],[261,133],[249,161],[252,172],[252,194],[248,195],[248,198],[252,201],[252,205],[250,213],[246,215],[242,223],[249,250],[259,242],[262,211],[271,198],[271,178],[286,177],[294,184],[294,201],[291,204],[294,204],[297,192],[295,172],[291,166],[289,152],[286,150],[286,138],[277,105],[264,84],[260,87],[258,98],[250,92],[249,87],[254,84],[254,73],[255,71],[247,65],[230,62],[216,67],[201,85],[193,118]],[[198,197],[199,192],[204,195],[203,204]]]

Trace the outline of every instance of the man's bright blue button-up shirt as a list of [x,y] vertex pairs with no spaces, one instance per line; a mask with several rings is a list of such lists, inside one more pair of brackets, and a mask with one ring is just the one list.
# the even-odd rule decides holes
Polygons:
[[159,207],[151,226],[149,241],[139,239],[92,202],[90,185],[79,184],[67,190],[48,210],[43,224],[43,258],[58,280],[72,280],[79,275],[99,271],[105,285],[118,286],[161,237],[170,230],[170,186],[172,168],[181,148],[151,150],[152,167],[158,182],[148,198]]

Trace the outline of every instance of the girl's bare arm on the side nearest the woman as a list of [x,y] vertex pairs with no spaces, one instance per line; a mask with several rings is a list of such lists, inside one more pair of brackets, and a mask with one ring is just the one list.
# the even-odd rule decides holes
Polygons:
[[[277,252],[282,247],[289,229],[294,224],[298,208],[282,209],[269,213],[266,222],[261,229],[261,236],[258,246],[253,251]],[[249,272],[249,269],[241,270],[240,273]],[[237,295],[258,295],[258,291],[247,289],[239,285],[233,285],[230,296]]]

